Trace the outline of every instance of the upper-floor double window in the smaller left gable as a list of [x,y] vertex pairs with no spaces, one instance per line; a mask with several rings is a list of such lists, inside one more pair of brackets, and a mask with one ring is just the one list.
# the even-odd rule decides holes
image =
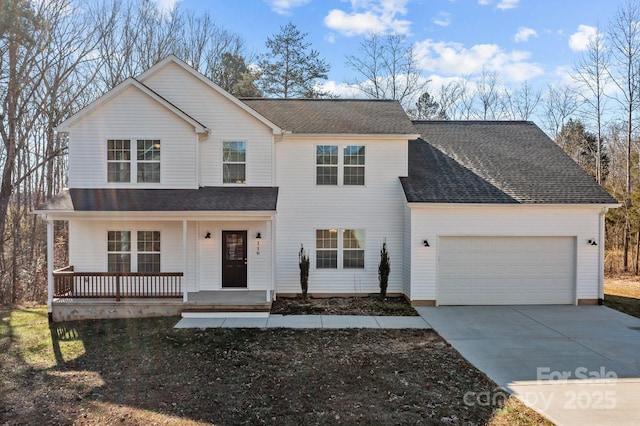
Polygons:
[[107,182],[160,182],[160,141],[138,139],[134,149],[131,139],[107,140]]

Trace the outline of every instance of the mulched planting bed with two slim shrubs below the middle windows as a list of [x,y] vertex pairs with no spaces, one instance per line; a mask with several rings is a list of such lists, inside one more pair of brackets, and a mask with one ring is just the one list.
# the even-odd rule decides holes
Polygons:
[[381,315],[418,316],[404,297],[281,297],[271,305],[272,314],[283,315]]

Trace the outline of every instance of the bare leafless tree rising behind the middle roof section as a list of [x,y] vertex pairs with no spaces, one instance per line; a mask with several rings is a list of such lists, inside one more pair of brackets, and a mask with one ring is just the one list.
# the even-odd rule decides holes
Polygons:
[[402,35],[371,34],[360,44],[359,55],[346,58],[358,78],[352,81],[373,99],[394,99],[409,110],[426,91],[429,80],[418,67],[413,46]]

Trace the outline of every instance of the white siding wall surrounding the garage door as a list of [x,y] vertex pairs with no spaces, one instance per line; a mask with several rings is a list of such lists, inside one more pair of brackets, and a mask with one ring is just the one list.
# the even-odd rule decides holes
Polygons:
[[[411,300],[437,299],[439,242],[445,237],[571,237],[576,243],[575,299],[597,299],[600,209],[581,206],[412,207],[410,217]],[[427,239],[430,247],[424,247]],[[575,302],[575,301],[574,301]]]

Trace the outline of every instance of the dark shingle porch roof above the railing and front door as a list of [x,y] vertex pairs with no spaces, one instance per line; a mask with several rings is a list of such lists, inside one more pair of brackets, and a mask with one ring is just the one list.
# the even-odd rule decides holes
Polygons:
[[278,188],[65,189],[39,211],[271,211]]

